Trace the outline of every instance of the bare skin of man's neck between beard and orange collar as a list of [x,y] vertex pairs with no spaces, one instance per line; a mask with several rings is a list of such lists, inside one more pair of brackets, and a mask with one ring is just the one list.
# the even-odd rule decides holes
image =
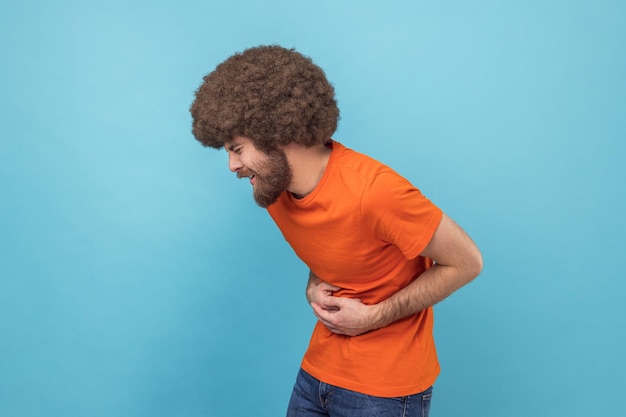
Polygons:
[[283,149],[292,170],[287,190],[296,198],[309,195],[322,179],[331,150],[325,145],[306,148],[290,143]]

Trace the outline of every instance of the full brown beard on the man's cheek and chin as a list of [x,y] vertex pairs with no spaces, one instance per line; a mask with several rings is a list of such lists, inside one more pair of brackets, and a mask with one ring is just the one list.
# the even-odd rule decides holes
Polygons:
[[254,201],[267,208],[274,204],[291,182],[291,167],[287,155],[280,149],[267,153],[267,159],[254,172]]

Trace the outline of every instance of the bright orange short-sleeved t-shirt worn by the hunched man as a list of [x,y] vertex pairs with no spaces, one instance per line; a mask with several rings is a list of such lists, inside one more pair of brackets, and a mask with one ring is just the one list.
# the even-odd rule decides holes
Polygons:
[[[283,193],[268,211],[283,236],[341,297],[379,303],[432,265],[419,256],[442,212],[389,167],[332,142],[320,182],[302,199]],[[415,394],[439,374],[427,308],[348,337],[317,323],[302,368],[331,385],[379,397]]]

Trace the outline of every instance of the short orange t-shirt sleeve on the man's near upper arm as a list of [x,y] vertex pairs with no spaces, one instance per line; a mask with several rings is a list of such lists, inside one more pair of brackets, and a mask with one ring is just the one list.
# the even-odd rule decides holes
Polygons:
[[376,237],[417,257],[435,234],[442,211],[393,171],[381,172],[363,192],[361,214]]

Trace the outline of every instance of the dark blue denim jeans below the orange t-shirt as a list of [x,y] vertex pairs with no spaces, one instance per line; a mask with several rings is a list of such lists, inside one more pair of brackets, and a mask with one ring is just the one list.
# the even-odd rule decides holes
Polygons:
[[406,397],[360,394],[313,378],[300,369],[287,417],[428,417],[433,388]]

